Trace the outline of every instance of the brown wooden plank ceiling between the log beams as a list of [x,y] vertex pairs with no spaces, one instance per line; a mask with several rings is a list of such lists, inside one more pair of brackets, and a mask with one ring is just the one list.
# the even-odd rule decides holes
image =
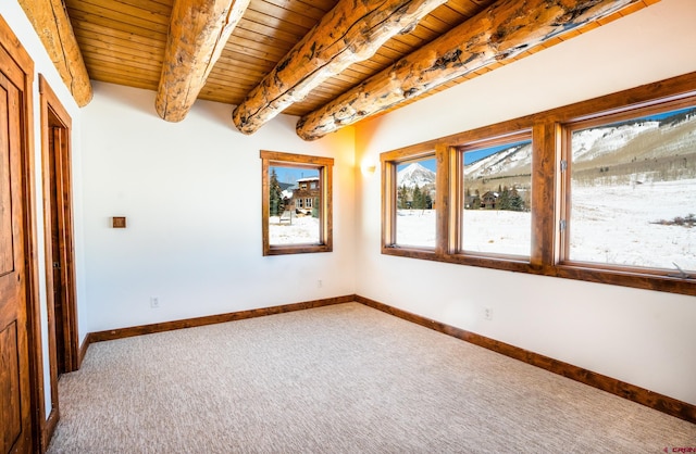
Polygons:
[[[90,79],[158,90],[174,2],[184,0],[63,1]],[[611,11],[611,14],[602,16],[599,22],[591,20],[581,23],[581,26],[572,31],[548,34],[548,39],[537,40],[535,45],[539,46],[535,48],[530,47],[515,54],[510,53],[510,59],[507,55],[506,58],[498,55],[475,71],[431,84],[427,89],[419,91],[418,96],[407,97],[409,99],[403,101],[413,102],[656,1],[659,0],[626,0],[622,4],[622,7],[627,5],[626,8],[618,12]],[[395,0],[361,0],[361,2],[373,4],[371,8],[383,8],[382,3],[395,3]],[[601,2],[602,0],[554,0],[547,3],[570,3],[576,10],[586,4],[584,5],[586,10]],[[611,3],[606,0],[604,2]],[[264,76],[272,72],[294,46],[337,3],[339,3],[338,0],[250,0],[241,20],[224,46],[220,59],[214,63],[200,89],[198,99],[234,105],[243,103]],[[401,3],[409,2],[401,0]],[[307,97],[294,102],[283,112],[304,116],[320,110],[341,93],[363,84],[424,45],[461,24],[472,23],[472,17],[494,3],[496,3],[495,0],[446,1],[445,4],[438,5],[425,15],[410,31],[393,36],[372,56],[352,63],[340,73],[326,78]],[[519,15],[520,7],[515,1],[499,0],[497,3],[514,4]],[[480,24],[471,26],[481,27]],[[398,106],[403,104],[405,102],[399,103]],[[395,108],[388,106],[378,113]]]

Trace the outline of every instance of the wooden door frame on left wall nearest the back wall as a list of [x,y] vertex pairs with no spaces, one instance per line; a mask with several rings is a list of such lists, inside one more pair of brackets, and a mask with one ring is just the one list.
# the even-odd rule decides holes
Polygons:
[[[48,416],[47,438],[55,428],[55,424],[60,418],[60,406],[58,399],[58,364],[57,364],[57,341],[55,341],[55,324],[63,326],[62,345],[64,346],[63,355],[65,358],[65,371],[74,371],[79,368],[79,338],[77,331],[77,305],[75,291],[75,254],[73,239],[73,190],[72,190],[72,172],[71,172],[71,130],[72,118],[65,108],[62,105],[58,96],[52,90],[44,75],[39,74],[39,102],[41,109],[41,173],[44,181],[44,238],[46,250],[46,298],[48,308],[48,331],[49,331],[49,364],[51,377],[51,412]],[[64,131],[64,140],[62,147],[57,149],[50,146],[49,136],[53,125],[51,118],[54,117],[60,123],[60,127]],[[51,209],[53,198],[51,196],[51,167],[60,167],[60,175],[55,175],[58,187],[63,190],[58,191],[58,213],[60,224],[59,235],[61,237],[61,250],[59,256],[53,255],[53,236],[52,236],[52,213]],[[62,300],[64,303],[61,319],[55,319],[54,299],[53,299],[53,263],[60,263],[63,286],[61,286]]]

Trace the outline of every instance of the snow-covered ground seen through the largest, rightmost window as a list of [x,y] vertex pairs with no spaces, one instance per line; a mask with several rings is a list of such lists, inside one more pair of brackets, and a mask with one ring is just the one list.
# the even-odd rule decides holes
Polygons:
[[696,270],[696,227],[659,225],[696,215],[696,179],[576,187],[572,260]]

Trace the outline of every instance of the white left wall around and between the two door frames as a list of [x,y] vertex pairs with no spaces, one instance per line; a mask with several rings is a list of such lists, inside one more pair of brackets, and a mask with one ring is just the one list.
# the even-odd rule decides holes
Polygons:
[[80,169],[80,155],[82,150],[79,147],[79,140],[76,138],[79,137],[80,134],[80,122],[79,122],[79,108],[73,100],[70,91],[63,84],[61,77],[58,74],[58,71],[53,66],[53,63],[49,59],[41,41],[38,36],[34,31],[32,24],[26,18],[24,11],[20,7],[16,1],[1,1],[0,2],[0,14],[4,17],[5,22],[10,25],[10,28],[14,31],[14,34],[20,39],[20,42],[24,46],[26,51],[29,53],[32,59],[34,60],[34,163],[35,163],[35,185],[34,191],[36,196],[37,203],[37,212],[36,215],[36,227],[37,227],[37,239],[38,239],[38,263],[39,263],[39,300],[40,300],[40,311],[41,311],[41,342],[44,346],[44,389],[45,389],[45,404],[46,404],[46,415],[48,416],[51,408],[51,399],[50,399],[50,370],[49,370],[49,355],[48,355],[48,316],[47,316],[47,301],[46,301],[46,249],[44,241],[44,202],[42,194],[44,189],[41,186],[41,111],[40,111],[40,98],[39,98],[39,89],[38,89],[38,75],[42,74],[46,77],[46,80],[51,86],[55,94],[60,99],[61,103],[71,115],[73,119],[73,168],[72,173],[74,178],[73,181],[73,215],[75,217],[75,261],[76,261],[76,291],[77,291],[77,311],[78,311],[78,332],[80,342],[84,340],[89,329],[87,328],[87,300],[85,298],[85,266],[84,266],[84,241],[83,241],[83,230],[82,223],[79,219],[83,216],[82,213],[82,186],[79,174]]

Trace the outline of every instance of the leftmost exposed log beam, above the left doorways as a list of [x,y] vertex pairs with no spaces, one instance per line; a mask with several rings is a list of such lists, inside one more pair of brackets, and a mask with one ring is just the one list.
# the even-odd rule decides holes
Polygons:
[[61,0],[18,0],[63,83],[80,108],[92,91],[83,54]]

